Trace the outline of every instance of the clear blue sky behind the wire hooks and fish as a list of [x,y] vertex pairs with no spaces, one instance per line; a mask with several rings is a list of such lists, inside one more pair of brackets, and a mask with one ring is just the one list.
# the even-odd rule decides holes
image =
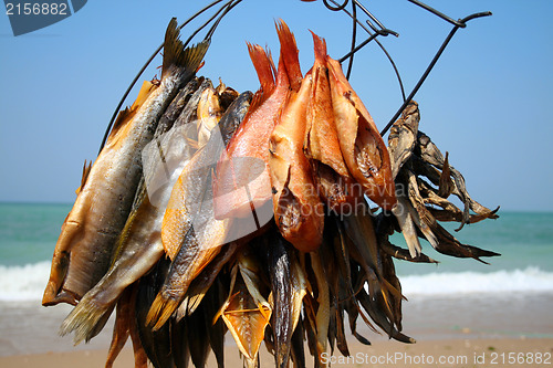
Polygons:
[[[136,72],[180,22],[208,1],[91,0],[77,13],[14,38],[0,14],[0,201],[72,202],[84,159],[94,159],[113,111]],[[410,91],[451,27],[406,0],[363,1],[399,38],[383,40]],[[420,129],[463,172],[469,192],[504,210],[553,209],[553,1],[428,0],[451,18],[490,10],[459,30],[415,99]],[[322,1],[244,0],[220,24],[200,71],[233,88],[259,86],[246,41],[278,55],[274,20],[295,33],[303,72],[309,30],[338,59],[351,23]],[[184,30],[185,39],[198,25]],[[152,78],[156,59],[143,80]],[[401,104],[393,70],[374,43],[351,78],[379,127]],[[136,96],[134,91],[127,101]]]

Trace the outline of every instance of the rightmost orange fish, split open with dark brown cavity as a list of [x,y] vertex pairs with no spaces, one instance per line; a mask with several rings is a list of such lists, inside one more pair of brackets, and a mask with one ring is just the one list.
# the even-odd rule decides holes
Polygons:
[[390,210],[396,204],[396,196],[386,145],[340,63],[330,56],[326,62],[334,122],[347,169],[371,200]]

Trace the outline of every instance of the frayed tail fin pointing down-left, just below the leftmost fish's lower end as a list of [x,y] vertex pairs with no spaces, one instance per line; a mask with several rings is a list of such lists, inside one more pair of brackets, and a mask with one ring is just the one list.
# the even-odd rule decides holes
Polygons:
[[111,311],[113,307],[109,304],[97,305],[92,299],[84,297],[63,320],[60,326],[60,335],[65,336],[74,333],[73,341],[75,345],[83,340],[88,341],[100,333],[103,324],[107,322],[105,314]]

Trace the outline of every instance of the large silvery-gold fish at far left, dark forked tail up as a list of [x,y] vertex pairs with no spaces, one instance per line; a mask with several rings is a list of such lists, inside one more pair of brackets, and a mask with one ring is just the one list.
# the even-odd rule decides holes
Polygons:
[[180,86],[196,73],[208,48],[202,42],[185,50],[178,35],[177,21],[171,20],[159,86],[148,91],[138,108],[119,116],[119,125],[112,132],[65,219],[43,305],[76,304],[108,270],[113,246],[140,180],[140,151]]

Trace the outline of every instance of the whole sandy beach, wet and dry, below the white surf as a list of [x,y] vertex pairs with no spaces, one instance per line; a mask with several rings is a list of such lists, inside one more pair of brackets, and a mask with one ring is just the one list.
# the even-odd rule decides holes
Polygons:
[[[348,336],[352,357],[347,359],[335,350],[326,358],[334,367],[551,367],[551,305],[550,293],[471,294],[455,298],[415,295],[404,305],[404,332],[416,338],[416,344],[388,340],[359,320],[359,333],[373,345],[364,346]],[[91,344],[73,347],[70,336],[59,337],[56,333],[70,308],[3,305],[0,367],[103,367],[111,328],[106,327]],[[261,367],[274,366],[263,346],[260,358]],[[311,365],[312,358],[307,357],[306,366]],[[115,367],[133,366],[127,346]],[[230,335],[226,366],[242,366]],[[217,367],[212,356],[208,367]]]

